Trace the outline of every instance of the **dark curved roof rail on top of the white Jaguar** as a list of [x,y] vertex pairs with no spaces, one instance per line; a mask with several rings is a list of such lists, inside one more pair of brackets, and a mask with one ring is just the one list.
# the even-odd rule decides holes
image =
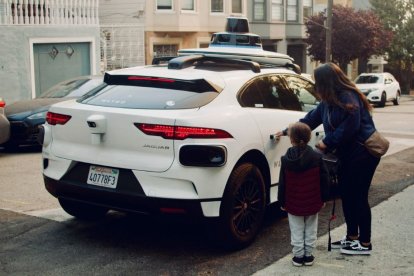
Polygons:
[[195,62],[204,63],[209,61],[220,62],[225,64],[243,65],[247,66],[250,70],[252,70],[255,73],[260,73],[260,65],[257,62],[243,59],[232,59],[227,57],[212,57],[206,55],[187,55],[173,58],[168,62],[168,69],[183,69],[192,66]]

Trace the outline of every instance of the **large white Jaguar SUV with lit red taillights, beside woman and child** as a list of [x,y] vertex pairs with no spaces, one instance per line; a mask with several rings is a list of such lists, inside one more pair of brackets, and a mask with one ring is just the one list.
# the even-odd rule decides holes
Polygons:
[[[106,73],[104,87],[50,107],[47,190],[78,218],[110,209],[217,218],[227,245],[248,245],[291,146],[272,135],[318,103],[292,60],[279,63],[190,55]],[[322,137],[314,131],[312,143]]]

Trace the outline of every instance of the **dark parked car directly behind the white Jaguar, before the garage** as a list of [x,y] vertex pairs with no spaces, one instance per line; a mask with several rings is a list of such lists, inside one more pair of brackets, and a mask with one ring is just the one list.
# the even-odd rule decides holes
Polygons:
[[39,126],[45,123],[50,105],[78,98],[101,85],[103,76],[82,76],[60,82],[38,98],[21,100],[6,106],[10,121],[10,139],[5,147],[38,145]]

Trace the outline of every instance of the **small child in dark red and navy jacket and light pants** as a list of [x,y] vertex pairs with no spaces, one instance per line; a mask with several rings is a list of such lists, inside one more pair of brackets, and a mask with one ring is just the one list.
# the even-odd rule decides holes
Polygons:
[[292,147],[282,156],[278,201],[289,218],[293,265],[313,265],[318,212],[327,200],[327,173],[322,156],[308,142],[311,130],[304,123],[289,126]]

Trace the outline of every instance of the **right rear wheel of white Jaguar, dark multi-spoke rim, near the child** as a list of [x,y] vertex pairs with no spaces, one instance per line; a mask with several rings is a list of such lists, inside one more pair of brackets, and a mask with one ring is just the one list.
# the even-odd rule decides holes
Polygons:
[[260,170],[251,163],[239,165],[230,175],[220,208],[219,231],[224,245],[240,249],[259,232],[266,208],[266,191]]

